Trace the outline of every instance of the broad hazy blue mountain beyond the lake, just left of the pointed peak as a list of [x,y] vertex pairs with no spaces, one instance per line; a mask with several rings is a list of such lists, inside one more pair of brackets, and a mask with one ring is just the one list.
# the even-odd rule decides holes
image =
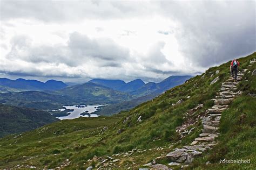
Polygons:
[[105,79],[92,79],[89,82],[100,84],[102,86],[109,87],[114,90],[117,90],[126,84],[123,80],[105,80]]

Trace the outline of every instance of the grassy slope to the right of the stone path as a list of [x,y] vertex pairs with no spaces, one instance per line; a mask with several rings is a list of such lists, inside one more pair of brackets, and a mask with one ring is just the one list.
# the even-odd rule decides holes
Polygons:
[[[255,53],[254,53],[255,58]],[[250,68],[250,67],[248,67]],[[230,108],[223,112],[220,124],[220,143],[214,147],[210,154],[195,161],[196,169],[254,169],[256,167],[256,98],[250,94],[256,94],[256,76],[245,74],[248,81],[243,80],[239,88],[244,94],[237,97]],[[249,70],[248,70],[249,71]],[[251,164],[219,164],[220,160],[249,160]],[[205,162],[212,164],[206,166]]]

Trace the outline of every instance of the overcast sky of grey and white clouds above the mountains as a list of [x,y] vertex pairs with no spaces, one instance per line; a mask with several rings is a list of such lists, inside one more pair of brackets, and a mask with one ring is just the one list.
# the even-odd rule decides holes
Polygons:
[[0,77],[199,75],[256,51],[255,18],[255,1],[0,0]]

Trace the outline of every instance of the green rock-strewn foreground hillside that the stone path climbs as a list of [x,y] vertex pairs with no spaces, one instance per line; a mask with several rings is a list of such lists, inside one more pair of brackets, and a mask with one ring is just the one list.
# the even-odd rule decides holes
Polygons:
[[[18,137],[2,138],[0,168],[138,169],[161,164],[174,169],[253,169],[256,167],[256,76],[252,75],[256,61],[253,59],[256,60],[256,53],[239,59],[243,72],[239,73],[239,83],[225,84],[230,80],[230,62],[227,62],[130,111],[110,117],[59,121]],[[185,162],[171,165],[174,160],[166,155],[174,148],[191,145],[205,130],[202,122],[209,116],[206,110],[220,106],[212,99],[221,95],[221,89],[235,95],[221,104],[225,104],[222,109],[214,109],[221,110],[221,114],[213,114],[220,118],[219,129],[212,130],[219,133],[218,137],[205,143],[199,141],[209,150],[191,151],[189,154],[198,157],[190,159],[187,165]],[[218,102],[224,101],[227,100]],[[206,147],[208,144],[211,146]],[[181,162],[187,160],[188,153],[184,155],[177,158]],[[251,164],[220,164],[224,158],[251,159]]]

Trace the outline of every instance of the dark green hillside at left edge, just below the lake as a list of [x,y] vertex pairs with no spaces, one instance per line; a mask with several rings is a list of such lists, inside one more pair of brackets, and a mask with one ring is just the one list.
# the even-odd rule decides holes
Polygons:
[[12,133],[33,130],[43,125],[57,122],[49,112],[12,107],[0,103],[0,138]]

